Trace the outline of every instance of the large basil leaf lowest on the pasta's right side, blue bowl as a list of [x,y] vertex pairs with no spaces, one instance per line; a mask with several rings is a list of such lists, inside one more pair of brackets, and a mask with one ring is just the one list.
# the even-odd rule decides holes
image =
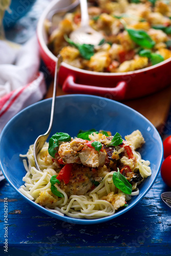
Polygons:
[[119,172],[113,174],[113,183],[123,193],[130,195],[132,193],[132,185],[126,180],[126,178]]

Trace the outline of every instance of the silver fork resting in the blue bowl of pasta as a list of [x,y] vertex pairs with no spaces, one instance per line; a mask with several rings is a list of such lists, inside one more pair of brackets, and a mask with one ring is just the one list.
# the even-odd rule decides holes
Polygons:
[[62,57],[60,55],[57,56],[56,65],[55,65],[55,76],[54,76],[54,86],[53,86],[53,96],[52,96],[52,106],[51,106],[51,117],[50,117],[50,124],[48,131],[45,134],[39,135],[37,139],[34,142],[34,148],[33,148],[33,156],[35,160],[36,168],[42,172],[39,168],[38,162],[37,162],[37,155],[41,151],[41,148],[44,146],[46,140],[48,139],[50,132],[52,130],[52,124],[53,124],[53,117],[54,117],[54,108],[55,108],[55,98],[56,98],[56,87],[58,85],[58,73],[60,64],[62,62]]

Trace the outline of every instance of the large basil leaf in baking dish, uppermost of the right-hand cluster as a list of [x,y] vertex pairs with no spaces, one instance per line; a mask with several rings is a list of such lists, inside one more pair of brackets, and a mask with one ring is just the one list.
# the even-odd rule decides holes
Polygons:
[[126,29],[129,33],[131,39],[136,42],[137,45],[144,48],[153,48],[155,46],[155,41],[144,31],[136,29]]

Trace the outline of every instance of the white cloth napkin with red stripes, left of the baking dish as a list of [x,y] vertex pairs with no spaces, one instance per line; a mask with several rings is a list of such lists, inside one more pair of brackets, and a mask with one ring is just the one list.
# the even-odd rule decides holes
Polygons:
[[0,40],[0,133],[15,114],[45,95],[39,59],[36,36],[20,47]]

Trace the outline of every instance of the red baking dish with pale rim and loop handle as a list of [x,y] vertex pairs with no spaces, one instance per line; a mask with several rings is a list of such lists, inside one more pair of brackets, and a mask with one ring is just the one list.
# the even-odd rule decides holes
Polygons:
[[[47,47],[44,20],[48,13],[63,8],[71,1],[54,0],[42,13],[37,37],[40,55],[50,74],[54,75],[56,56]],[[62,62],[59,84],[66,93],[82,93],[108,97],[115,100],[134,99],[155,93],[171,83],[171,58],[145,69],[125,73],[100,73],[75,68]]]

